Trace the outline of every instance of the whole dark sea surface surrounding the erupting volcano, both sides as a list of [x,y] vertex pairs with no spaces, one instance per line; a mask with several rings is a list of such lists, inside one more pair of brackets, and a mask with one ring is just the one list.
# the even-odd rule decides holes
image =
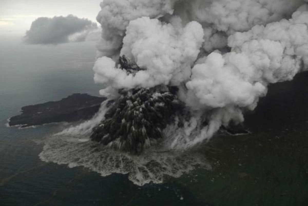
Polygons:
[[[8,40],[9,41],[9,40]],[[71,93],[97,95],[94,44],[0,45],[0,205],[307,205],[308,75],[274,85],[247,117],[253,132],[221,136],[197,150],[212,170],[137,186],[128,175],[102,177],[39,159],[40,141],[61,125],[7,128],[24,105]]]

